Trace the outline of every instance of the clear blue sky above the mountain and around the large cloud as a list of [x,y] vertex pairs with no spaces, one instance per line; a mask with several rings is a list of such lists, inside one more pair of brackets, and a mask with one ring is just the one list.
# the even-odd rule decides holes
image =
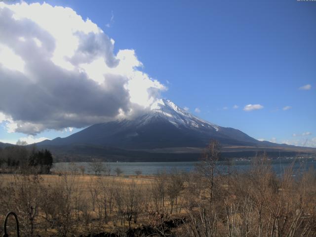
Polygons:
[[[89,18],[115,40],[114,54],[135,50],[141,70],[167,87],[160,97],[256,139],[316,147],[315,1],[46,2]],[[249,104],[260,109],[245,111]],[[5,123],[0,141],[80,130],[30,135]]]

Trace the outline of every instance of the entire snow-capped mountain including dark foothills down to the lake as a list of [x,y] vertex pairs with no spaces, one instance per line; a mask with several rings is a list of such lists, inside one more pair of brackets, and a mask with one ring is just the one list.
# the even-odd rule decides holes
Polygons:
[[224,151],[233,152],[231,156],[241,150],[244,156],[245,151],[293,147],[258,141],[240,130],[197,118],[165,99],[158,100],[151,110],[139,117],[94,124],[68,137],[45,140],[37,145],[56,154],[73,154],[82,160],[91,156],[133,161],[153,157],[156,157],[154,160],[161,157],[191,160],[200,156],[211,139],[218,140]]

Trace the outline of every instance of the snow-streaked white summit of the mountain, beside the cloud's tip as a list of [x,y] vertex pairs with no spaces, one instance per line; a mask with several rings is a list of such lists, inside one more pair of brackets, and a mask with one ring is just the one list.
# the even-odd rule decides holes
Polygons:
[[170,100],[160,99],[155,102],[151,111],[146,115],[145,119],[150,120],[153,117],[163,117],[166,118],[173,125],[195,127],[195,128],[214,128],[216,131],[219,130],[219,126],[201,118],[191,115],[184,109],[180,108]]

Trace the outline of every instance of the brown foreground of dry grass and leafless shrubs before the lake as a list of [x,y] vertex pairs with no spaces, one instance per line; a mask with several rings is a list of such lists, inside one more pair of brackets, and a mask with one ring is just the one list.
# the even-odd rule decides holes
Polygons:
[[[28,157],[39,152],[45,154]],[[0,222],[14,211],[21,236],[28,237],[316,236],[314,170],[289,166],[276,175],[262,155],[246,172],[228,163],[223,173],[216,165],[220,156],[212,141],[193,172],[128,177],[102,175],[97,165],[94,175],[80,169],[48,175],[41,161],[25,162],[24,172],[0,174]]]

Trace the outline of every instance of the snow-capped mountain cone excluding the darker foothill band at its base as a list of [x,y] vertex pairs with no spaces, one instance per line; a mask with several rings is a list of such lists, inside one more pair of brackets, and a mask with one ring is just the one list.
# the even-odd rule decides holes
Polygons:
[[160,100],[138,118],[94,124],[66,138],[46,140],[40,145],[93,144],[122,149],[205,147],[210,139],[223,145],[251,146],[256,139],[234,129],[197,118],[169,100]]

